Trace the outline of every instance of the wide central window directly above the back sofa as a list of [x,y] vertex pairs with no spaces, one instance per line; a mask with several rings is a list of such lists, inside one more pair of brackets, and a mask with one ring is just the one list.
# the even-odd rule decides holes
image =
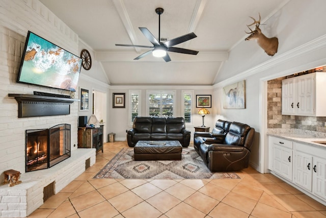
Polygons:
[[148,91],[147,114],[150,116],[173,117],[175,91]]

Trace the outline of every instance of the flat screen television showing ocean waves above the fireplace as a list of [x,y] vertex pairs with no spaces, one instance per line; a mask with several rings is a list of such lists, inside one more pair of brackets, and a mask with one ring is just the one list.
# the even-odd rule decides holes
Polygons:
[[28,32],[18,83],[76,91],[82,59]]

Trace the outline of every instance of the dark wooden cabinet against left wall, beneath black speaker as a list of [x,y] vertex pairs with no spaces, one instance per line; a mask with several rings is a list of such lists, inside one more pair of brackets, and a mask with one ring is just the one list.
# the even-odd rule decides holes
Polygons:
[[94,148],[103,153],[103,125],[99,128],[78,127],[78,148]]

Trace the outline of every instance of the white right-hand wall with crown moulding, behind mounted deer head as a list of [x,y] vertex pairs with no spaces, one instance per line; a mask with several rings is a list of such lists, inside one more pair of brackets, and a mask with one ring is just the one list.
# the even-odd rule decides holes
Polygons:
[[[326,64],[325,7],[326,1],[323,0],[290,1],[270,17],[265,26],[261,26],[262,32],[268,37],[279,38],[278,53],[269,57],[256,42],[243,41],[230,52],[229,60],[219,72],[218,80],[222,82],[214,86],[216,99],[223,96],[223,86],[246,80],[246,109],[223,109],[222,98],[215,106],[218,114],[223,117],[249,124],[256,129],[251,164],[261,172],[264,168],[261,153],[266,148],[264,130],[267,120],[264,118],[265,87],[260,86],[263,81]],[[268,35],[269,32],[274,35]]]

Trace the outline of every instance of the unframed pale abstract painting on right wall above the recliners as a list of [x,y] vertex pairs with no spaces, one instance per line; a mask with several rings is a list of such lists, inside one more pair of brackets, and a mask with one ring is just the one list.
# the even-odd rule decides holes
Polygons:
[[223,108],[246,108],[246,80],[223,87]]

